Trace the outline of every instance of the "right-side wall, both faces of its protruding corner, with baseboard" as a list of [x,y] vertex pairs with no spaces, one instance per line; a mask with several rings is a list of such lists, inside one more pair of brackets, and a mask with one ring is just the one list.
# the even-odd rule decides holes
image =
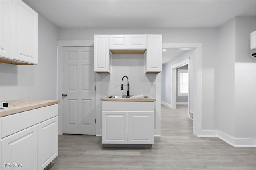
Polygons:
[[218,29],[215,129],[232,145],[256,145],[256,59],[250,33],[256,17],[239,16]]

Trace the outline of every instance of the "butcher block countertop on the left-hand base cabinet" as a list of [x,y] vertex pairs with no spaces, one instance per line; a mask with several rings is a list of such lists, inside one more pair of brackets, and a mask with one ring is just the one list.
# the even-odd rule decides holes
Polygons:
[[11,100],[7,102],[9,107],[7,109],[0,109],[0,117],[58,104],[60,100]]

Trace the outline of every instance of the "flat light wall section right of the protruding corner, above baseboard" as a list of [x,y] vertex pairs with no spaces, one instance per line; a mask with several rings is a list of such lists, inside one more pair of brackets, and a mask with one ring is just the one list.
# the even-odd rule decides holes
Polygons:
[[256,58],[251,56],[250,33],[256,17],[236,17],[235,138],[256,139]]

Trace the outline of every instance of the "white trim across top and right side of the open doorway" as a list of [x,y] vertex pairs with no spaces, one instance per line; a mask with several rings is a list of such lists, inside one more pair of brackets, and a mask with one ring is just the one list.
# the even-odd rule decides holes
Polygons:
[[194,92],[193,97],[193,133],[194,135],[202,134],[202,43],[163,43],[162,48],[174,49],[194,49],[193,58],[193,77]]

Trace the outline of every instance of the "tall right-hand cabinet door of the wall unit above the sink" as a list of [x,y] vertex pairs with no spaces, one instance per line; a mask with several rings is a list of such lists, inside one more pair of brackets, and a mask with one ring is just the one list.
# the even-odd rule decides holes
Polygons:
[[147,35],[147,51],[145,53],[145,73],[162,71],[162,35]]

